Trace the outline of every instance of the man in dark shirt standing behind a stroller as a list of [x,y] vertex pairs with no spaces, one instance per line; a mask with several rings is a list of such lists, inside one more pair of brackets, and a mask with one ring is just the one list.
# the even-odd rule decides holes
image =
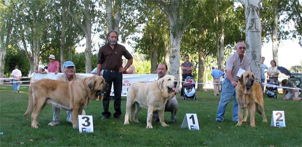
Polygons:
[[[185,55],[185,62],[181,64],[182,73],[182,81],[185,81],[187,76],[192,77],[192,70],[193,70],[193,63],[189,61],[189,55]],[[184,88],[181,88],[180,96],[183,99],[184,95]]]

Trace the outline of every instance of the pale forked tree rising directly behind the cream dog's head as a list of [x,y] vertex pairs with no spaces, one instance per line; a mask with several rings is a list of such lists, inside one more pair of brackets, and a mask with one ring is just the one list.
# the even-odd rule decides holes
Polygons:
[[[180,43],[184,30],[195,20],[198,0],[154,0],[166,12],[170,29],[169,74],[179,77]],[[200,17],[200,15],[198,15]]]

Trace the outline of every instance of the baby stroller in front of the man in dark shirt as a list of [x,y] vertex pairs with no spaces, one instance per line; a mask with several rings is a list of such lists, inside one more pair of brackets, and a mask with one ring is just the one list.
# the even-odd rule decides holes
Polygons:
[[195,82],[191,76],[186,77],[185,82],[183,83],[183,91],[184,91],[184,100],[187,100],[187,98],[197,99],[195,94],[196,92]]

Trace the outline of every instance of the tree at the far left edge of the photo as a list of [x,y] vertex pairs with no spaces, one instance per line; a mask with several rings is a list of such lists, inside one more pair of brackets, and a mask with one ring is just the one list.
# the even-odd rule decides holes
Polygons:
[[[13,29],[13,1],[0,1],[0,77],[4,77],[5,58],[11,41],[11,31]],[[3,80],[0,80],[0,84]]]

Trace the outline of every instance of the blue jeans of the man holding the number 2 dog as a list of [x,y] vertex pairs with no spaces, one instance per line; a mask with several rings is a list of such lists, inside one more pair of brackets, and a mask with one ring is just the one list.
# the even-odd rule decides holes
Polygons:
[[228,80],[228,79],[223,80],[220,101],[219,101],[218,109],[217,109],[217,117],[216,117],[217,121],[223,121],[226,105],[229,103],[229,101],[231,100],[231,98],[233,96],[234,96],[233,121],[237,122],[238,121],[238,103],[237,103],[236,89],[232,85],[230,80]]

